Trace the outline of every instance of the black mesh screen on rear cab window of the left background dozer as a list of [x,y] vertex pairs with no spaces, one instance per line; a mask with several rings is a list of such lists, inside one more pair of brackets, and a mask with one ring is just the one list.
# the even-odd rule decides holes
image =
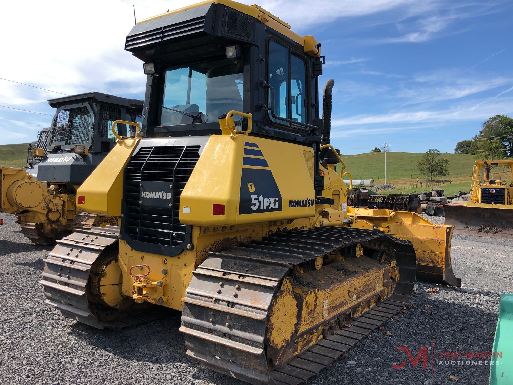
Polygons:
[[91,114],[87,107],[61,110],[53,123],[52,144],[88,144],[91,142]]

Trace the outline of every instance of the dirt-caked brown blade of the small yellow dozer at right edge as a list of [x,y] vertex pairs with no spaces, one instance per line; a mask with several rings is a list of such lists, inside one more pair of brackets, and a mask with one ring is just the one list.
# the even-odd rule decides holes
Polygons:
[[444,205],[445,224],[454,234],[513,239],[513,210],[507,208]]

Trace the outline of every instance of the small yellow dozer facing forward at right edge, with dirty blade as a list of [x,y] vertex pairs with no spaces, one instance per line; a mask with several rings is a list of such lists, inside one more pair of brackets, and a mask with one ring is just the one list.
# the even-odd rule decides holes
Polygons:
[[[495,166],[504,168],[508,178],[490,179]],[[513,160],[474,162],[470,199],[444,205],[444,223],[455,226],[455,234],[513,239],[512,166]]]

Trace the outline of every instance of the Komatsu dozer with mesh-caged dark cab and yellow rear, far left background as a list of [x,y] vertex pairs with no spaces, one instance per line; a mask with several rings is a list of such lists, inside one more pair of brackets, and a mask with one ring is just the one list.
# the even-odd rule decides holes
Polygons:
[[[112,122],[141,120],[143,102],[100,92],[52,99],[52,126],[28,148],[27,168],[0,168],[0,211],[14,213],[33,243],[51,244],[74,228],[117,224],[76,206],[76,189],[115,144]],[[118,124],[120,134],[127,125]]]

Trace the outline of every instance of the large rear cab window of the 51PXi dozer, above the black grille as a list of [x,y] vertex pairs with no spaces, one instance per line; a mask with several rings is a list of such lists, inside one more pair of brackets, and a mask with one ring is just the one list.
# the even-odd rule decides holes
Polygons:
[[231,110],[242,111],[242,70],[242,59],[167,70],[160,124],[217,123]]

